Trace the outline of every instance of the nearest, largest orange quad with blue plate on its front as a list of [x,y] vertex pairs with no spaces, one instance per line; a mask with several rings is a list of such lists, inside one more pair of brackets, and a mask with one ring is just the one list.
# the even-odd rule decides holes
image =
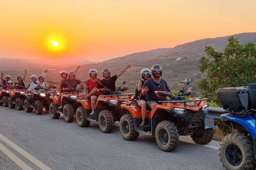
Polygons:
[[[156,86],[162,87],[158,81],[153,81]],[[186,83],[186,86],[190,80]],[[185,87],[186,87],[185,86]],[[184,88],[185,88],[184,87]],[[162,87],[163,88],[163,87]],[[158,101],[151,114],[146,113],[146,125],[139,126],[141,108],[137,101],[126,102],[121,105],[124,114],[120,121],[120,132],[125,140],[135,140],[139,133],[154,135],[156,143],[163,151],[174,150],[179,142],[179,135],[191,135],[191,138],[198,144],[205,145],[212,140],[214,118],[205,118],[208,112],[206,98],[191,98],[191,91],[182,88],[178,96],[172,96],[165,88],[164,91],[155,91],[158,97],[170,97],[172,99]]]

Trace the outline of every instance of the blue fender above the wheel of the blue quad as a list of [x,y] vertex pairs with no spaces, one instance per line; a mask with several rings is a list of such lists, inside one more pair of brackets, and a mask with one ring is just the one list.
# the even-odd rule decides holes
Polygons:
[[252,138],[256,138],[256,120],[253,117],[249,115],[239,117],[232,114],[222,114],[220,117],[223,122],[230,121],[242,125],[251,134]]

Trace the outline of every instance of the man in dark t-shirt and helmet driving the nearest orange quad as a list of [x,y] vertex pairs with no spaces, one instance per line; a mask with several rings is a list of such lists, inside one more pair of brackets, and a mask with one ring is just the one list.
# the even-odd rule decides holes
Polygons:
[[[158,105],[157,101],[166,100],[166,97],[157,97],[155,91],[161,91],[162,87],[156,86],[153,81],[159,81],[161,85],[167,89],[170,94],[173,95],[172,90],[167,85],[166,81],[164,79],[161,79],[162,76],[162,67],[158,64],[155,64],[151,67],[151,74],[153,75],[152,78],[148,79],[148,81],[145,83],[142,94],[146,95],[146,101],[148,106],[151,108],[151,113],[153,113],[154,108]],[[174,96],[174,95],[173,95]]]

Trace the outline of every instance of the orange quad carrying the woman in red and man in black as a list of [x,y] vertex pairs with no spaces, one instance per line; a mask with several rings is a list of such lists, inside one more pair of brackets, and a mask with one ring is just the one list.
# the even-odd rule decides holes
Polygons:
[[[99,92],[110,92],[111,90],[103,86],[101,82],[97,81],[103,89],[98,89]],[[123,82],[125,84],[126,81]],[[122,86],[123,86],[122,84]],[[113,91],[112,95],[100,95],[95,106],[95,115],[90,115],[92,112],[91,101],[85,98],[78,99],[77,102],[82,106],[78,107],[76,111],[76,122],[78,126],[87,127],[92,122],[99,122],[100,130],[109,133],[113,129],[116,121],[119,121],[123,115],[121,104],[123,101],[130,101],[134,94],[121,94],[126,91],[128,87],[122,86]]]

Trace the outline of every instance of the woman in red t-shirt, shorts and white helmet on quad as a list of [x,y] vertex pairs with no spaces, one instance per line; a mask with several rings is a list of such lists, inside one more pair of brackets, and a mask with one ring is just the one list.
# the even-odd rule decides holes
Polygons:
[[[90,79],[88,79],[85,82],[85,87],[84,87],[85,95],[89,94],[89,92],[92,91],[92,89],[98,85],[96,83],[96,81],[101,81],[101,79],[97,78],[97,74],[98,74],[98,72],[96,69],[91,69],[89,71]],[[94,115],[96,100],[99,97],[99,95],[100,95],[100,92],[95,91],[94,94],[92,94],[92,96],[91,96],[92,113],[90,113],[90,115]]]

